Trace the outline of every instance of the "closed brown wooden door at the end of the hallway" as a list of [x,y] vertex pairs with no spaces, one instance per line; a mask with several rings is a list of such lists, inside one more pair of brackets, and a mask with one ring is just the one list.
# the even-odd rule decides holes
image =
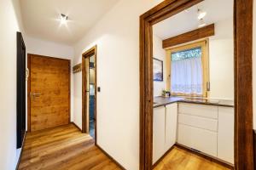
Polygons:
[[[70,122],[70,60],[28,54],[31,132]],[[29,126],[30,125],[30,126]]]

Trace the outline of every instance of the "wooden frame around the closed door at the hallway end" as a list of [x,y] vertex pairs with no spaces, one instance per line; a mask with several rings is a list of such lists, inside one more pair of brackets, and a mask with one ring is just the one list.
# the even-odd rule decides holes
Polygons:
[[71,83],[71,67],[70,67],[70,59],[61,59],[61,58],[55,58],[55,57],[49,57],[49,56],[44,56],[44,55],[39,55],[39,54],[27,54],[27,69],[29,71],[29,76],[27,78],[27,87],[26,87],[26,98],[27,98],[27,116],[26,116],[26,124],[27,124],[27,132],[31,132],[31,101],[30,101],[30,90],[31,90],[31,58],[32,55],[42,57],[42,58],[48,58],[48,59],[59,59],[59,60],[67,60],[68,65],[69,65],[69,79],[68,79],[68,89],[69,89],[69,94],[68,94],[68,123],[70,123],[70,114],[71,114],[71,109],[70,109],[70,83]]

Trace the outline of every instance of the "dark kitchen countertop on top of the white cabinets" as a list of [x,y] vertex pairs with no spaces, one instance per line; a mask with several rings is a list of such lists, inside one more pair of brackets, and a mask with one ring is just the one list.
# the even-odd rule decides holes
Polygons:
[[202,98],[185,98],[185,97],[154,97],[153,107],[160,107],[172,103],[191,103],[200,105],[217,105],[225,107],[234,107],[234,101],[230,99],[202,99]]

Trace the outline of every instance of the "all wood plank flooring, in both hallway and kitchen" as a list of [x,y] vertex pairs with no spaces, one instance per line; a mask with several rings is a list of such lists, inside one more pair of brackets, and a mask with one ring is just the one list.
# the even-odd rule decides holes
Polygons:
[[[125,154],[125,153],[124,153]],[[88,135],[73,124],[27,133],[19,169],[120,169]],[[154,170],[226,170],[212,161],[175,147]]]

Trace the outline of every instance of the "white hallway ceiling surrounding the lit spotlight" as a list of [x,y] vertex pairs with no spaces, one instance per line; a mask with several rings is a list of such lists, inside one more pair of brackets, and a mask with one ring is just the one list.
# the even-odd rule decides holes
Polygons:
[[[20,0],[26,34],[73,45],[119,0]],[[67,26],[60,25],[67,14]]]

